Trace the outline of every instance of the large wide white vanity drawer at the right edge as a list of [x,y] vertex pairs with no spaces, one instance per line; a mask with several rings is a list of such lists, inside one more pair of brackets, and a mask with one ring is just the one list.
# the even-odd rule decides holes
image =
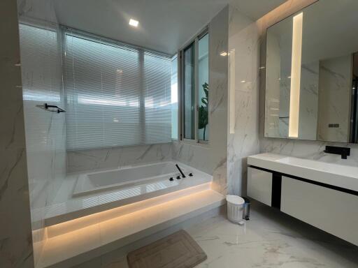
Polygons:
[[358,245],[358,196],[282,176],[281,211]]

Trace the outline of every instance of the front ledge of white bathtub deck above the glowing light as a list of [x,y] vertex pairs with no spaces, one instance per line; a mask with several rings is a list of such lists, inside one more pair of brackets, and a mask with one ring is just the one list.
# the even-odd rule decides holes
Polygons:
[[31,214],[34,216],[35,225],[36,218],[38,218],[38,221],[45,218],[44,225],[51,226],[188,188],[201,187],[199,191],[202,191],[210,187],[208,184],[213,177],[199,170],[193,170],[195,170],[195,176],[187,177],[185,181],[148,182],[148,184],[141,184],[140,186],[112,189],[78,197],[73,196],[73,188],[80,174],[69,175],[59,189],[54,202],[45,207],[45,217],[43,217],[43,208],[38,209],[38,211],[33,210]]

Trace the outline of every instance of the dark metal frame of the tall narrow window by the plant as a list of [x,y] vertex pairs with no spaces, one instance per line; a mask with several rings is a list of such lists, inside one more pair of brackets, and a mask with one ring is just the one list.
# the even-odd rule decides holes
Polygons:
[[[196,37],[190,39],[187,43],[185,43],[185,45],[180,48],[178,55],[180,57],[180,59],[178,60],[178,94],[180,95],[178,100],[180,100],[180,104],[179,104],[179,117],[180,117],[180,130],[179,130],[179,140],[182,142],[186,142],[189,144],[201,144],[201,145],[208,145],[210,144],[210,140],[199,140],[199,103],[198,103],[198,98],[199,98],[199,40],[201,38],[203,38],[204,36],[206,36],[206,34],[209,35],[209,43],[208,43],[208,80],[209,80],[209,84],[210,84],[210,31],[209,31],[209,27],[205,27],[203,30],[201,30],[199,32],[198,35],[196,35]],[[191,45],[194,45],[194,94],[192,94],[192,96],[194,96],[194,122],[192,122],[192,126],[194,127],[194,131],[192,131],[192,133],[194,134],[194,137],[192,139],[188,139],[185,138],[185,126],[184,126],[184,112],[185,112],[185,57],[184,57],[184,52],[185,50],[187,50],[188,47],[190,47]],[[209,91],[209,96],[210,96],[210,91]],[[210,98],[209,98],[210,100]],[[210,109],[210,106],[209,106]],[[210,112],[208,114],[208,131],[210,132]],[[210,136],[209,136],[210,137]]]

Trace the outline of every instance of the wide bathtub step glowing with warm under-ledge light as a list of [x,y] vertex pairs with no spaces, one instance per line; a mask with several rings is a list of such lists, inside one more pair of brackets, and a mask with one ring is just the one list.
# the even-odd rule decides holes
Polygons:
[[[80,219],[48,227],[49,237],[38,267],[71,267],[99,255],[126,246],[150,234],[199,216],[222,206],[224,196],[207,189],[156,204],[122,216],[106,215],[101,221],[92,215],[94,224],[83,227]],[[76,222],[78,221],[78,222]],[[77,224],[77,228],[74,227]],[[78,225],[79,224],[79,225]],[[62,234],[57,232],[62,228]],[[68,228],[69,232],[64,232]]]

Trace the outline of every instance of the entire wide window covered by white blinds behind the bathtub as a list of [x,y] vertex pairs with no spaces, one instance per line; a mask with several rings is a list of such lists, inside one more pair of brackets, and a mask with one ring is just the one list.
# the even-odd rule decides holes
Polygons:
[[64,45],[67,149],[172,140],[171,57],[78,31]]

